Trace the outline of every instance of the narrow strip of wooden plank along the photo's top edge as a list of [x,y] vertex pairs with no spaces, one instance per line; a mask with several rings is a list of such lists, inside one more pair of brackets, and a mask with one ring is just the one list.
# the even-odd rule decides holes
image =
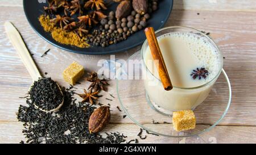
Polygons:
[[[45,0],[34,0],[44,2]],[[1,0],[0,6],[22,7],[22,0]],[[216,10],[216,11],[256,11],[254,0],[178,0],[174,1],[174,9],[177,10]],[[200,12],[200,11],[199,11]]]

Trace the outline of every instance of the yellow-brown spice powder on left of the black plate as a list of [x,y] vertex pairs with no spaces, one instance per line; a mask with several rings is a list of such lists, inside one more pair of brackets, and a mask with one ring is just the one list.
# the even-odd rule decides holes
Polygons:
[[80,48],[90,46],[88,43],[86,43],[84,37],[80,38],[75,32],[67,32],[61,28],[55,27],[49,16],[41,15],[39,17],[39,22],[44,28],[44,31],[51,32],[52,38],[61,44],[75,45]]

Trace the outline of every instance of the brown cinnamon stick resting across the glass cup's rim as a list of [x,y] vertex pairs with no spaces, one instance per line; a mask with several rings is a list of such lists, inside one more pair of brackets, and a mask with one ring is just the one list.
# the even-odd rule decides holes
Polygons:
[[[147,27],[145,30],[148,45],[150,47],[151,55],[154,60],[158,60],[158,73],[159,77],[162,81],[163,87],[165,90],[171,90],[172,89],[172,82],[169,77],[166,64],[164,63],[163,55],[160,51],[158,40],[155,36],[154,28]],[[156,63],[156,61],[155,61]],[[156,64],[157,65],[157,64]]]

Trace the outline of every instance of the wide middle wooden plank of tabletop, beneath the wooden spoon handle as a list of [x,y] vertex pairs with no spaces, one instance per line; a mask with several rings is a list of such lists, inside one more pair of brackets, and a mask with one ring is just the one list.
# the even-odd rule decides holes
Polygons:
[[[20,12],[17,16],[6,14],[6,11]],[[233,88],[233,100],[228,115],[222,120],[222,125],[255,125],[256,122],[256,21],[253,20],[255,12],[223,12],[223,11],[197,11],[174,10],[166,26],[185,25],[199,30],[211,32],[218,47],[225,56],[224,69],[228,73]],[[98,60],[108,59],[110,56],[77,55],[65,52],[53,47],[41,39],[25,20],[22,8],[1,7],[0,21],[10,20],[18,27],[24,37],[28,48],[34,53],[34,60],[42,73],[47,72],[62,86],[68,86],[61,77],[61,72],[73,61],[79,62],[85,67],[86,72],[97,70]],[[241,24],[243,23],[243,24]],[[0,25],[0,121],[16,121],[15,112],[23,99],[32,80],[22,61],[19,60],[16,51],[6,37],[3,25]],[[45,57],[40,57],[44,51],[51,48]],[[124,53],[118,53],[116,58],[124,59],[133,55],[137,49],[131,49]],[[54,66],[52,64],[55,64]],[[77,85],[79,90],[87,87],[89,83],[81,80]],[[109,93],[114,94],[115,82],[110,82]],[[10,102],[11,101],[11,102]],[[113,110],[113,123],[133,123],[129,118],[122,119],[123,112],[119,112],[117,98],[113,101],[100,100],[104,104],[111,103]],[[139,114],[138,114],[139,116]],[[146,122],[151,123],[151,122]],[[208,122],[210,123],[210,122]]]

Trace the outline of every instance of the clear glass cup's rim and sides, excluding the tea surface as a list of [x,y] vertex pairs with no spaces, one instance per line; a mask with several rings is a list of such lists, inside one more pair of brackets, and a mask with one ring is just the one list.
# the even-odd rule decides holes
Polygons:
[[210,44],[216,49],[218,58],[220,60],[220,67],[218,68],[218,73],[214,78],[204,85],[197,87],[176,87],[166,91],[163,88],[162,82],[159,78],[155,77],[154,74],[150,72],[145,64],[145,53],[148,47],[147,40],[144,41],[141,50],[142,57],[142,72],[144,78],[144,87],[146,89],[147,102],[152,108],[164,115],[172,115],[173,111],[195,109],[199,104],[201,104],[209,95],[214,82],[216,82],[218,76],[221,73],[223,66],[222,54],[218,49],[217,45],[214,43],[210,37],[204,33],[189,27],[166,27],[155,32],[156,37],[165,35],[170,32],[191,32],[204,37],[205,40],[209,41]]

